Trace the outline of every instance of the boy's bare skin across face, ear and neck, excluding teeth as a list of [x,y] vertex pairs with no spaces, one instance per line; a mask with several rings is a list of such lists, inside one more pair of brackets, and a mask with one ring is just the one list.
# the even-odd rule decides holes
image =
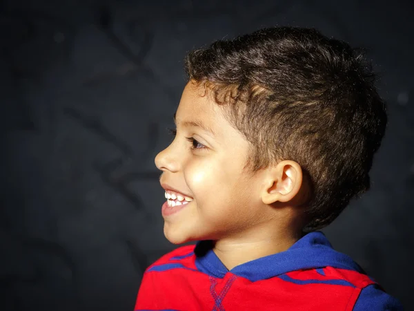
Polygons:
[[[212,129],[210,135],[199,126]],[[281,161],[246,171],[250,143],[225,119],[221,107],[193,83],[184,88],[175,140],[155,158],[161,184],[193,198],[164,217],[171,243],[213,240],[214,252],[231,270],[283,252],[302,236],[308,189],[297,162]],[[199,142],[188,142],[194,138]],[[190,149],[190,147],[196,149]]]

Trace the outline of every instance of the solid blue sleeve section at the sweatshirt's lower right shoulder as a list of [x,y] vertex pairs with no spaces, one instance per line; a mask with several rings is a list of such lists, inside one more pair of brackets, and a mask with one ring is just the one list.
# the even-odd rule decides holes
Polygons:
[[354,311],[362,310],[403,310],[400,301],[387,294],[377,284],[372,284],[363,288],[358,296]]

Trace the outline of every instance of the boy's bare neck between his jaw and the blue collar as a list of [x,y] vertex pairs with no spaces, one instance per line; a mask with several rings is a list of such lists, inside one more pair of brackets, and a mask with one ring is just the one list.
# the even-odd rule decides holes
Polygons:
[[255,233],[253,237],[238,236],[214,242],[213,251],[228,270],[248,261],[284,252],[302,237],[302,232]]

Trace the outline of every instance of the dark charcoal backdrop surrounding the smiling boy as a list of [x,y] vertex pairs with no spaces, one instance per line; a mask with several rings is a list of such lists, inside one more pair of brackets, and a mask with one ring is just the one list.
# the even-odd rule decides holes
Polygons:
[[373,187],[324,230],[414,310],[411,1],[1,1],[0,310],[133,310],[172,249],[153,159],[186,53],[263,26],[368,48],[389,126]]

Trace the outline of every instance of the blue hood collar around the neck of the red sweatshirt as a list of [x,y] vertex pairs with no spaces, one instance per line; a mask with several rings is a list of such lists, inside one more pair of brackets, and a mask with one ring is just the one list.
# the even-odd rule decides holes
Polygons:
[[[213,252],[212,241],[197,243],[195,256],[195,265],[201,272],[217,278],[229,272]],[[336,252],[322,232],[306,234],[286,251],[237,265],[230,272],[254,282],[296,270],[328,266],[364,273],[349,256]]]

